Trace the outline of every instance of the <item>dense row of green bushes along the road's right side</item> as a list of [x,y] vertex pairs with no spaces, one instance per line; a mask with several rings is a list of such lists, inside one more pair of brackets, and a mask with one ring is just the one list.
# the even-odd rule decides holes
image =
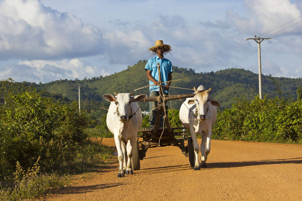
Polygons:
[[[297,90],[298,97],[301,90]],[[302,143],[302,100],[237,100],[217,115],[213,139]]]

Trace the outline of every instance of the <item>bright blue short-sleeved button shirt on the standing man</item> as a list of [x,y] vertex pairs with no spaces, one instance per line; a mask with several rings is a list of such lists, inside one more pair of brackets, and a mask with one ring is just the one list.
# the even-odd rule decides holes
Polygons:
[[[166,58],[160,59],[157,55],[156,57],[150,58],[145,66],[145,71],[149,70],[151,71],[152,77],[158,81],[158,68],[157,68],[157,63],[160,65],[160,73],[162,77],[162,82],[168,81],[168,75],[169,73],[172,72],[172,63]],[[154,84],[151,80],[149,80],[149,85]],[[162,86],[165,86],[166,83],[162,83]],[[149,86],[149,91],[159,91],[159,86]],[[169,93],[168,90],[163,90],[165,93]]]

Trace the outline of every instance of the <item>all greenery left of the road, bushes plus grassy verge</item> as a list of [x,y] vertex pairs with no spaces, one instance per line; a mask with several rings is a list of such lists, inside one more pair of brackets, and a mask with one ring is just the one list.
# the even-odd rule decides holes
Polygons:
[[31,199],[62,187],[66,177],[60,175],[90,171],[112,155],[83,132],[89,116],[78,111],[77,102],[61,104],[33,90],[6,90],[12,82],[2,82],[0,91],[5,97],[0,104],[0,200]]

